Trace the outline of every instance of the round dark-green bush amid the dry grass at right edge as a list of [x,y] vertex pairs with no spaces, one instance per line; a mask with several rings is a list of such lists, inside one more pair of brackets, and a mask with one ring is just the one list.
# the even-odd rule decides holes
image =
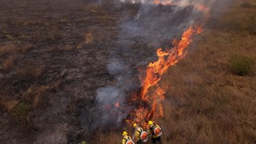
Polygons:
[[231,71],[240,76],[251,74],[254,71],[254,60],[240,55],[232,55],[229,59]]

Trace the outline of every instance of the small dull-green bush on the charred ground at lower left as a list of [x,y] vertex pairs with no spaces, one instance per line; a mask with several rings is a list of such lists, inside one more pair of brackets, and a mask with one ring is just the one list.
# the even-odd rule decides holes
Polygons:
[[29,104],[21,102],[13,108],[12,113],[15,118],[26,121],[29,116],[30,110],[31,106]]

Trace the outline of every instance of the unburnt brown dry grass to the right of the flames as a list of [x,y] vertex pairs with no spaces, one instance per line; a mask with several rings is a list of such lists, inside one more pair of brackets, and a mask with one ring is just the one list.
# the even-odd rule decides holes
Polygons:
[[166,128],[165,143],[256,142],[255,71],[241,77],[228,68],[231,55],[255,61],[256,36],[230,30],[206,29],[197,49],[190,47],[189,55],[163,77],[165,116],[159,122]]

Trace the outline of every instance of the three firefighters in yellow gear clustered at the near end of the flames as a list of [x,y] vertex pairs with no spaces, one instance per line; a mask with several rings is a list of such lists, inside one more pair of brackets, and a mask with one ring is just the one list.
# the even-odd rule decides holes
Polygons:
[[148,122],[147,131],[144,131],[142,127],[139,127],[137,123],[133,124],[134,127],[134,134],[133,139],[128,135],[126,131],[123,132],[123,140],[122,144],[142,144],[143,142],[147,142],[148,135],[151,135],[152,142],[155,144],[159,142],[162,144],[161,135],[162,129],[159,127],[158,124],[154,123],[153,121]]

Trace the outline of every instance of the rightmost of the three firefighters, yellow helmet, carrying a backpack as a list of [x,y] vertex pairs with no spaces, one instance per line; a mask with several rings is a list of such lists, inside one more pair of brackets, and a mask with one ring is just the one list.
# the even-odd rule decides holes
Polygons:
[[162,144],[162,141],[161,141],[162,130],[158,124],[150,120],[148,122],[147,133],[152,135],[153,144],[156,144],[156,142],[159,142],[159,144]]

